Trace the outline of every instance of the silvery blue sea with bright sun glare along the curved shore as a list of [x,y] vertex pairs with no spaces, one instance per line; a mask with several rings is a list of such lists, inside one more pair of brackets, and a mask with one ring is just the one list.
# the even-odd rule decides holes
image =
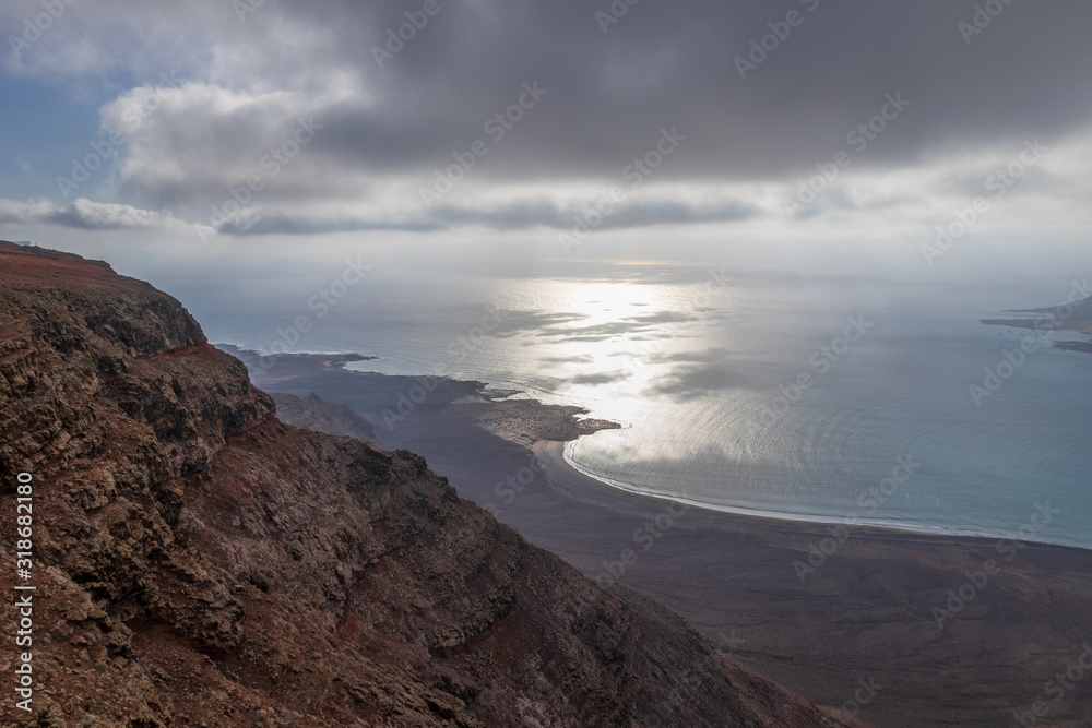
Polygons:
[[1065,277],[975,287],[566,262],[336,284],[343,272],[157,283],[212,342],[359,351],[379,359],[353,368],[582,405],[624,429],[567,457],[619,488],[1092,548],[1092,355],[980,323],[1064,301]]

